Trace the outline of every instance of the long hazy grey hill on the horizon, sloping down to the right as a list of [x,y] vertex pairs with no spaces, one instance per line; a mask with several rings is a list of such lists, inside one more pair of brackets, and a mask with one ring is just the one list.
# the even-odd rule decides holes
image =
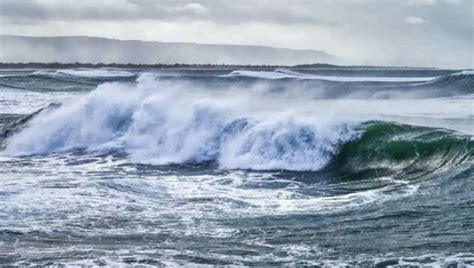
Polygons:
[[318,50],[265,46],[0,35],[0,62],[296,65],[334,63],[336,58]]

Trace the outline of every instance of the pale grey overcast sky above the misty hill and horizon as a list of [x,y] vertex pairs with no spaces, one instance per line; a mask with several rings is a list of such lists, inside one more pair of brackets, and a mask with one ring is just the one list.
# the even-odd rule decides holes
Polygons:
[[474,0],[0,0],[0,34],[323,50],[355,64],[474,66]]

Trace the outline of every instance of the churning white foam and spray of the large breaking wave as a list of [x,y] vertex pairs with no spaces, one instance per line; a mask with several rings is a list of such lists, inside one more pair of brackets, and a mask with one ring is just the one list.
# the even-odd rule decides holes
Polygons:
[[317,170],[354,135],[346,123],[277,110],[282,99],[266,98],[275,103],[260,107],[254,91],[229,98],[232,93],[149,74],[135,86],[106,83],[32,120],[5,153],[112,149],[139,163],[213,160],[224,168]]

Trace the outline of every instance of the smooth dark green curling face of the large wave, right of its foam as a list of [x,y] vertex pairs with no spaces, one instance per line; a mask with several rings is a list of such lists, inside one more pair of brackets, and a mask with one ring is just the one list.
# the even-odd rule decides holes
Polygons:
[[472,137],[445,129],[367,122],[328,168],[339,178],[418,177],[472,162]]

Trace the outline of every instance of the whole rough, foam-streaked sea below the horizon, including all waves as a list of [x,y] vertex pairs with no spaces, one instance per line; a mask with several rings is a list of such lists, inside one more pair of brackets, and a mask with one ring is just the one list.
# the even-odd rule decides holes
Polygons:
[[0,70],[4,265],[474,265],[474,72]]

